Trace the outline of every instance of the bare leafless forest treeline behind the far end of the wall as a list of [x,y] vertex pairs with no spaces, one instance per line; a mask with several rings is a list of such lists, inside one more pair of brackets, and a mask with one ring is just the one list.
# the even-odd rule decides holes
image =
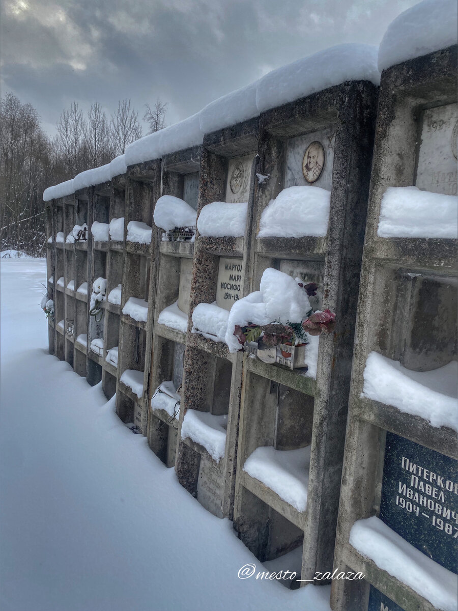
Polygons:
[[[145,104],[148,134],[165,126],[167,104]],[[142,137],[131,100],[107,117],[98,102],[84,113],[77,102],[60,114],[56,136],[43,131],[38,112],[12,93],[0,98],[0,251],[45,255],[43,191],[92,167],[109,163]]]

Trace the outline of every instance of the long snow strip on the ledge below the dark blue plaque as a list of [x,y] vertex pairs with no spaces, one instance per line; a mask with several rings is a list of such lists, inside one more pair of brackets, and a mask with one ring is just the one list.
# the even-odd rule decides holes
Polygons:
[[456,611],[458,576],[415,549],[376,516],[352,526],[350,544],[442,611]]

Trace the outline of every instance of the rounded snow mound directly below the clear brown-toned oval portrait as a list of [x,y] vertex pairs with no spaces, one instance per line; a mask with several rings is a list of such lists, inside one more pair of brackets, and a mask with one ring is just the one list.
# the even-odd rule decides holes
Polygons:
[[330,191],[315,186],[288,187],[261,214],[258,238],[325,236],[329,223]]

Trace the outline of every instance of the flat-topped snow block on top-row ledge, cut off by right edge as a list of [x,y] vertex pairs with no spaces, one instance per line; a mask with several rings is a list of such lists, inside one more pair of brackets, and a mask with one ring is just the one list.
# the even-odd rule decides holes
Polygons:
[[458,197],[388,187],[380,205],[380,238],[457,238]]

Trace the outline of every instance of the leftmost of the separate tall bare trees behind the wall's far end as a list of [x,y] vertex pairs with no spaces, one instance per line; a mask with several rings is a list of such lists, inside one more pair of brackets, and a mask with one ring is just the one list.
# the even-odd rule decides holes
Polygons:
[[70,109],[62,111],[57,122],[56,144],[64,161],[67,178],[73,178],[89,167],[85,143],[87,122],[78,102],[72,102]]

